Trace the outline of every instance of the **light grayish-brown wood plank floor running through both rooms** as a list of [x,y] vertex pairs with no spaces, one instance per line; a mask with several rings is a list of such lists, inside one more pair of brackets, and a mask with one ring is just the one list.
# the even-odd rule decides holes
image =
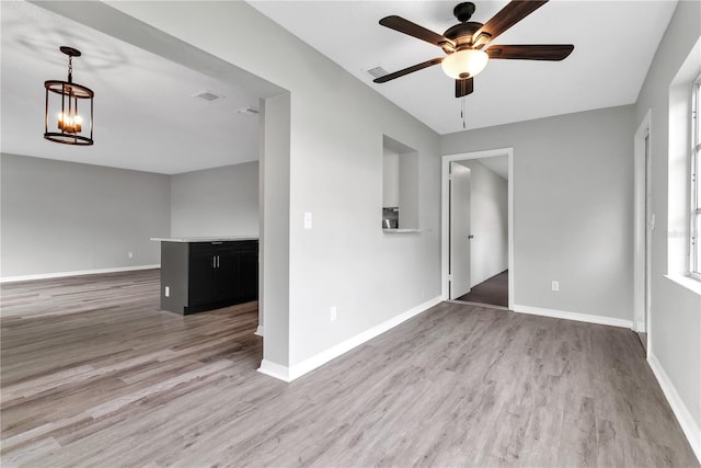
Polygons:
[[445,303],[285,384],[157,271],[1,293],[3,468],[698,466],[630,330]]

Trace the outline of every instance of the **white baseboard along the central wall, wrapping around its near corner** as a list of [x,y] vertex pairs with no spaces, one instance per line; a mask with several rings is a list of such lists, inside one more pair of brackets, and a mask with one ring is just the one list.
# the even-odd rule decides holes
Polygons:
[[325,351],[322,351],[321,353],[311,356],[291,367],[281,366],[279,364],[271,363],[263,359],[261,362],[258,372],[285,381],[295,380],[296,378],[303,376],[304,374],[326,364],[327,362],[341,356],[342,354],[347,353],[354,347],[359,346],[360,344],[372,340],[374,338],[384,333],[386,331],[393,329],[394,327],[411,319],[412,317],[415,317],[421,312],[424,312],[427,309],[434,307],[435,305],[440,304],[440,296],[434,297],[433,299],[420,304],[418,306],[403,313],[400,313],[397,317],[393,317],[382,323],[372,327],[369,330],[358,333],[355,336],[349,338],[348,340],[343,341]]

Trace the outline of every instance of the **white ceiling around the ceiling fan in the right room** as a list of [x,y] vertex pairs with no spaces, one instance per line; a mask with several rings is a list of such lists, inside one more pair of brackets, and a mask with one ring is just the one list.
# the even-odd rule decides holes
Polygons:
[[[250,1],[258,11],[340,64],[439,134],[463,129],[461,99],[440,66],[384,84],[366,70],[392,72],[441,57],[428,43],[380,26],[397,14],[443,34],[458,23],[458,1]],[[506,0],[474,1],[471,21],[491,19]],[[564,61],[491,60],[467,96],[466,127],[631,104],[676,1],[552,0],[494,44],[574,44]]]

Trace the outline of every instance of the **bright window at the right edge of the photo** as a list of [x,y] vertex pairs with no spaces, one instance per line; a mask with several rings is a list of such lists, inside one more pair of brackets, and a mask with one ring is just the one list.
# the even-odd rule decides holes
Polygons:
[[701,75],[693,82],[691,101],[691,226],[689,274],[701,279]]

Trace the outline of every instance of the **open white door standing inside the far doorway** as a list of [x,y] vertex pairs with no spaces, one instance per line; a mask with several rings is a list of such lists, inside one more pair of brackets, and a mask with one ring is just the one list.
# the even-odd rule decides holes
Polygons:
[[450,163],[449,297],[470,292],[470,169]]

